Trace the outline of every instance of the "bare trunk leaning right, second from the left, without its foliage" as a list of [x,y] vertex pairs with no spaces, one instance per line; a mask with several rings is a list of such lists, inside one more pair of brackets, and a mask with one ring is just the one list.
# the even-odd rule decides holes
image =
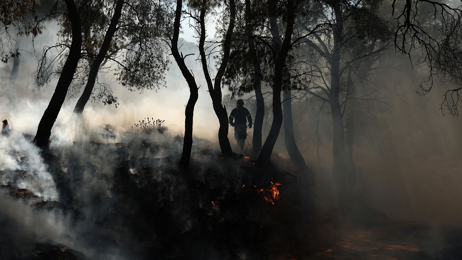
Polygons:
[[71,116],[71,120],[77,122],[80,117],[82,116],[82,112],[84,111],[85,105],[91,97],[91,93],[93,91],[93,87],[95,86],[96,78],[98,76],[99,67],[104,60],[104,57],[108,53],[110,43],[112,41],[112,37],[117,31],[117,23],[119,22],[122,7],[123,7],[123,0],[117,0],[116,8],[114,9],[114,14],[112,15],[111,21],[109,23],[108,31],[106,31],[106,35],[104,36],[103,44],[99,49],[99,52],[95,59],[91,62],[90,73],[88,74],[88,80],[85,85],[84,91],[80,96],[79,100],[77,100],[77,104],[75,105],[74,111]]

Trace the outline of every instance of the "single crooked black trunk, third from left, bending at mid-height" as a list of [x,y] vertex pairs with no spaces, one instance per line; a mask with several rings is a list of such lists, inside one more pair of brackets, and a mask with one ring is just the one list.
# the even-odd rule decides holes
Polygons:
[[175,10],[175,22],[173,24],[173,37],[171,39],[170,50],[172,56],[175,58],[178,68],[180,68],[184,79],[188,82],[189,87],[189,99],[184,111],[184,139],[183,139],[183,151],[179,167],[183,170],[187,170],[189,167],[189,161],[191,159],[191,149],[193,146],[193,118],[194,118],[194,107],[199,97],[199,91],[194,79],[194,75],[189,72],[188,67],[184,63],[184,56],[178,51],[178,37],[180,34],[180,22],[181,22],[181,9],[182,0],[176,0]]

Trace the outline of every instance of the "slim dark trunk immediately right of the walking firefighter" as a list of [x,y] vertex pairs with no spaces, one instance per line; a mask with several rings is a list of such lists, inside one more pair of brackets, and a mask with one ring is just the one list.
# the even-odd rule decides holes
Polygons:
[[265,100],[261,93],[261,65],[255,50],[255,41],[252,37],[250,26],[250,0],[245,0],[245,19],[246,19],[246,34],[249,43],[249,54],[252,58],[252,65],[254,67],[254,89],[257,111],[255,113],[254,134],[252,137],[252,151],[258,155],[261,150],[261,130],[263,128],[263,118],[265,116]]

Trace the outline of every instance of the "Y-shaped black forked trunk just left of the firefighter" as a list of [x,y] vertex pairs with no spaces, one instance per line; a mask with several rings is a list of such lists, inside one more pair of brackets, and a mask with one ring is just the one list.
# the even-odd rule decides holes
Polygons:
[[230,50],[231,50],[231,37],[234,30],[234,25],[236,21],[236,2],[235,0],[229,1],[230,5],[230,22],[228,24],[228,29],[225,34],[225,40],[223,42],[223,58],[221,59],[220,67],[218,68],[217,74],[215,75],[214,82],[212,83],[212,79],[210,78],[210,74],[208,73],[208,65],[207,65],[207,56],[205,54],[204,43],[205,43],[205,14],[207,8],[204,6],[201,8],[201,14],[199,16],[199,21],[201,24],[201,37],[199,39],[199,52],[201,54],[201,62],[202,62],[202,70],[204,71],[204,77],[207,81],[208,92],[210,94],[210,98],[212,99],[213,104],[213,111],[215,111],[215,115],[219,121],[219,130],[218,130],[218,142],[220,145],[221,153],[224,156],[231,156],[234,155],[231,149],[231,144],[228,139],[228,131],[229,131],[229,120],[228,120],[228,112],[226,111],[226,107],[221,103],[222,102],[222,94],[221,94],[221,79],[223,78],[223,74],[225,74],[225,69],[228,66],[229,57],[230,57]]

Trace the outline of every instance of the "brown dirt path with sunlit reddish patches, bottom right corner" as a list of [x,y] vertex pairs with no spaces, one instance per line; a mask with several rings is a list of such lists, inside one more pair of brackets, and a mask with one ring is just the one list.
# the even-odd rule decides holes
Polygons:
[[308,259],[461,260],[462,229],[414,223],[346,229],[333,247]]

